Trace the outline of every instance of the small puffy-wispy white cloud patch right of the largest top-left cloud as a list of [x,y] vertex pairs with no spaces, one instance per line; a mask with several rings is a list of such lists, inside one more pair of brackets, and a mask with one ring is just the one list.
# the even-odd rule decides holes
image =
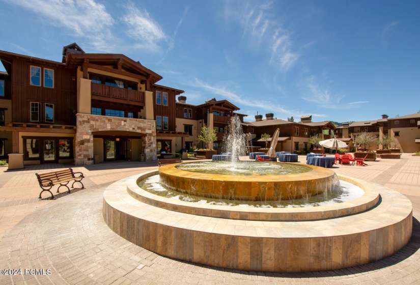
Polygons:
[[137,9],[128,3],[127,14],[122,18],[127,25],[127,35],[136,41],[136,48],[150,51],[159,50],[158,43],[166,40],[159,24],[149,15],[146,9]]

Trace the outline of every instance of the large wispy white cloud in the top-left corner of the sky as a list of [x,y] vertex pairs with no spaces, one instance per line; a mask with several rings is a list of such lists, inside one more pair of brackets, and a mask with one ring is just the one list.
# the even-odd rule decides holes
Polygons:
[[108,28],[114,24],[113,17],[104,5],[94,0],[6,0],[21,6],[48,20],[51,25],[66,27],[79,37],[86,37],[91,44],[103,45],[109,41]]

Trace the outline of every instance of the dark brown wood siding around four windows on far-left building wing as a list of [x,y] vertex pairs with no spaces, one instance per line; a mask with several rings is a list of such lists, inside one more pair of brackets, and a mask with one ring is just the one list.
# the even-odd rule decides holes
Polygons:
[[[41,68],[41,85],[43,68],[54,70],[54,88],[31,86],[31,66]],[[40,123],[43,122],[44,103],[54,104],[54,123],[57,125],[76,125],[76,71],[62,65],[30,62],[26,59],[13,59],[12,67],[12,121],[30,123],[30,102],[40,102]]]

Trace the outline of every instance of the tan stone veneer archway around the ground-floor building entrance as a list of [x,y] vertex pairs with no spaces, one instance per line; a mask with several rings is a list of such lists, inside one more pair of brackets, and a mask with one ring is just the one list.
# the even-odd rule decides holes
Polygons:
[[155,121],[77,114],[76,125],[75,165],[93,164],[92,132],[97,131],[115,130],[145,134],[142,147],[145,151],[146,161],[155,161],[157,159]]

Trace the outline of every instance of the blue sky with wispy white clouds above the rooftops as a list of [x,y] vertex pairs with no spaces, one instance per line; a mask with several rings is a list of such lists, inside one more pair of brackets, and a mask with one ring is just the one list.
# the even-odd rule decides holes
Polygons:
[[[123,53],[254,121],[364,121],[420,110],[420,1],[0,0],[0,50],[61,62]],[[0,66],[4,70],[3,66]]]

